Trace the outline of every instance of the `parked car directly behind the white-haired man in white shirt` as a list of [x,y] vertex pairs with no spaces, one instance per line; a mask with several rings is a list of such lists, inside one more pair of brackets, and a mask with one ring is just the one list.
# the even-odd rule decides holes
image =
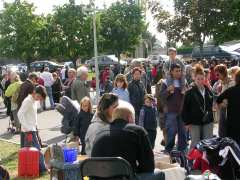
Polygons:
[[35,61],[30,64],[30,69],[34,71],[41,71],[44,67],[49,67],[50,72],[54,72],[58,68],[63,68],[63,65],[52,61]]

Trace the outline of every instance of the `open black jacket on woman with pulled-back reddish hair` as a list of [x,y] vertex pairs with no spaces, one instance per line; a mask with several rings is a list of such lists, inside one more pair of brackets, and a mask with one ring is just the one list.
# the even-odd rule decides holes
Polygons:
[[197,86],[193,86],[190,90],[186,92],[183,109],[182,109],[182,119],[185,124],[192,125],[202,125],[213,122],[213,94],[212,92],[205,86],[205,106],[206,111],[208,112],[208,120],[206,122],[202,122],[204,112],[204,99],[198,90]]

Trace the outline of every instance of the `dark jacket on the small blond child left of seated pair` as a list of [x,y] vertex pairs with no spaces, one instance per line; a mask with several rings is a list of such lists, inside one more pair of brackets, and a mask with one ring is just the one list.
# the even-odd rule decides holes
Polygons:
[[91,123],[93,114],[90,112],[80,111],[75,121],[74,135],[84,138],[88,127]]

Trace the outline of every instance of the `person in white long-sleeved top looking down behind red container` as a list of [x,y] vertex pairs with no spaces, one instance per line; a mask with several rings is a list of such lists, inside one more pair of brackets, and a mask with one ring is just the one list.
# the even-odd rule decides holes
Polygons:
[[[35,88],[32,94],[29,94],[18,111],[18,118],[21,124],[21,147],[33,146],[39,151],[41,149],[37,135],[37,101],[42,101],[46,98],[46,89],[39,85]],[[31,141],[28,137],[31,136]],[[30,142],[29,142],[30,141]],[[40,154],[39,162],[40,172],[46,170],[43,155]]]

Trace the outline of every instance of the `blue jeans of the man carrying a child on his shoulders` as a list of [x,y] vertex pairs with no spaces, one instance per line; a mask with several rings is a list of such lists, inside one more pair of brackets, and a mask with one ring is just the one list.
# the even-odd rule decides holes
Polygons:
[[187,149],[187,133],[184,124],[177,113],[166,113],[165,114],[165,127],[167,130],[167,143],[165,150],[171,152],[175,145],[175,137],[178,134],[178,145],[179,151],[185,151]]

